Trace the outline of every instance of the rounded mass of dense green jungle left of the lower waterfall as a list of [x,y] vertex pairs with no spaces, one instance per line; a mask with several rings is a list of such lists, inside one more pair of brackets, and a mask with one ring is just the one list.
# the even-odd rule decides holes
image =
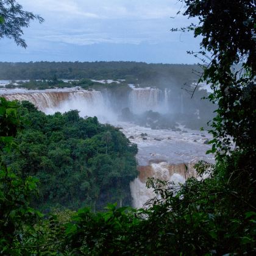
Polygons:
[[130,205],[137,146],[123,133],[96,117],[80,118],[76,110],[45,115],[23,102],[18,113],[24,123],[15,138],[19,151],[7,163],[21,177],[40,180],[37,208]]

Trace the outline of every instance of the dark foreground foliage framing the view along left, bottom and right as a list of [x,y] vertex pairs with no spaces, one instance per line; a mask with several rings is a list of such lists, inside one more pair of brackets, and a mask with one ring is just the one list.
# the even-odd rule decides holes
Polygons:
[[[199,24],[182,30],[202,35],[201,54],[210,61],[202,79],[213,89],[208,98],[218,102],[211,123],[215,165],[198,163],[204,179],[188,179],[180,188],[149,180],[158,196],[146,210],[109,205],[106,212],[82,208],[41,216],[29,204],[37,180],[6,165],[6,155],[20,151],[15,140],[23,121],[17,104],[2,100],[1,254],[255,254],[255,3],[182,2],[185,15],[199,17]],[[237,63],[242,65],[239,72],[232,69]]]

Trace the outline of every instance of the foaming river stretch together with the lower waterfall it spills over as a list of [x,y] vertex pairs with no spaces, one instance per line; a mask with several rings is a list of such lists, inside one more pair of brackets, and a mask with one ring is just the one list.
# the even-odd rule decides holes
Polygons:
[[[176,185],[185,182],[185,171],[183,163],[189,168],[188,176],[196,176],[193,163],[198,160],[214,162],[213,155],[205,155],[210,145],[204,144],[210,135],[186,129],[187,132],[174,132],[172,130],[152,130],[146,127],[134,126],[130,123],[119,123],[123,127],[124,134],[130,141],[138,145],[137,161],[139,166],[151,166],[152,172],[147,177],[174,182]],[[147,140],[143,140],[141,133],[147,133]],[[205,137],[202,137],[205,136]],[[156,140],[157,139],[157,140]],[[160,163],[151,163],[160,162]],[[172,168],[173,164],[181,164]],[[152,189],[146,188],[146,180],[140,177],[130,183],[130,191],[133,199],[133,207],[141,208],[155,194]]]

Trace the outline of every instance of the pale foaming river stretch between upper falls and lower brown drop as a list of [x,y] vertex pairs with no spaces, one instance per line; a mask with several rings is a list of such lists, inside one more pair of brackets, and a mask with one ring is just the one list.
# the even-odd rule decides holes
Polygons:
[[[118,122],[116,125],[123,127],[122,132],[126,137],[138,145],[138,165],[148,165],[150,160],[190,163],[196,159],[201,159],[214,162],[213,155],[205,155],[205,152],[211,148],[210,145],[204,144],[205,140],[211,138],[207,132],[190,129],[186,129],[185,132],[164,129],[152,130],[127,122]],[[141,133],[146,133],[147,136],[142,137]]]

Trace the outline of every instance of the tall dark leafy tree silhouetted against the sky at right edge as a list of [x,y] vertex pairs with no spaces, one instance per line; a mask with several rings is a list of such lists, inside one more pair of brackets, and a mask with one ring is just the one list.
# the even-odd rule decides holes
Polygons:
[[[210,101],[218,102],[218,116],[213,119],[215,148],[228,151],[230,137],[244,150],[255,148],[255,1],[181,1],[184,15],[198,17],[194,37],[202,36],[201,51],[207,66],[202,66],[201,81],[213,89]],[[192,52],[193,53],[193,52]],[[222,142],[221,142],[222,140]]]

